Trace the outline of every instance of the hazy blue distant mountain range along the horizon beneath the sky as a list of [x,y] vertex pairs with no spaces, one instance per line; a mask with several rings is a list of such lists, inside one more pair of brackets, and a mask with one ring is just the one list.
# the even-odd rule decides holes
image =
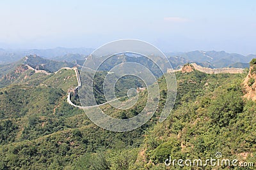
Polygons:
[[[8,64],[17,62],[26,55],[39,55],[44,59],[51,59],[63,62],[79,63],[83,65],[84,60],[90,53],[92,48],[52,48],[52,49],[31,49],[31,50],[4,50],[0,48],[0,64]],[[224,51],[200,51],[193,52],[166,52],[165,53],[174,69],[183,66],[186,63],[196,62],[196,64],[204,67],[221,68],[221,67],[249,67],[249,62],[256,55],[241,55],[239,53],[227,53]],[[157,57],[157,56],[156,56]]]

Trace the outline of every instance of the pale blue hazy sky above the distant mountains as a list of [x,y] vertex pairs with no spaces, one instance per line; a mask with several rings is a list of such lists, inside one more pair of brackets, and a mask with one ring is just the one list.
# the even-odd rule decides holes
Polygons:
[[0,1],[0,48],[97,48],[124,38],[169,52],[256,53],[256,1]]

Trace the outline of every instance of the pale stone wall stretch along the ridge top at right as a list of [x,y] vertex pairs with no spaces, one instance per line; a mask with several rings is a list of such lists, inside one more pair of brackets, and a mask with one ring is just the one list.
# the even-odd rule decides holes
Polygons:
[[[207,67],[198,66],[196,63],[191,63],[191,66],[193,66],[196,70],[207,73],[207,74],[220,74],[220,73],[243,73],[244,69],[240,68],[220,68],[220,69],[211,69]],[[177,71],[182,71],[182,67],[180,69],[167,69],[167,73],[173,73]]]

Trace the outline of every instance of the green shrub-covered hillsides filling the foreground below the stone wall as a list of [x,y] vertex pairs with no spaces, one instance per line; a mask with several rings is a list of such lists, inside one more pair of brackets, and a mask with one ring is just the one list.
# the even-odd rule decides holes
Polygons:
[[[180,169],[166,167],[164,160],[170,155],[203,159],[216,152],[255,161],[256,104],[243,98],[241,83],[246,73],[175,74],[177,99],[168,119],[157,122],[166,98],[165,81],[159,78],[157,113],[131,132],[101,129],[83,110],[67,103],[67,89],[77,85],[72,70],[49,76],[36,73],[2,88],[0,169]],[[138,85],[129,82],[121,85]],[[98,90],[100,95],[100,86]],[[140,113],[146,101],[147,90],[128,111],[108,104],[101,108],[111,117],[129,118]]]

